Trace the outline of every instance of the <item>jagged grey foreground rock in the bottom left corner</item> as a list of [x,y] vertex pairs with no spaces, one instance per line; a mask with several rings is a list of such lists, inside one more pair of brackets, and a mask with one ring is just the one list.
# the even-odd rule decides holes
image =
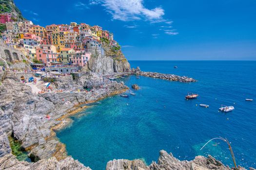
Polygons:
[[55,157],[42,159],[36,163],[19,161],[16,156],[7,154],[0,158],[0,170],[91,170],[71,156],[58,161]]

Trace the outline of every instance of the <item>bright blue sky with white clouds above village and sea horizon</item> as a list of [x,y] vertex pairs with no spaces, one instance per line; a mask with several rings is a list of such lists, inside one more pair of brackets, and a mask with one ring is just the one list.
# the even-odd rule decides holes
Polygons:
[[41,26],[99,25],[128,60],[256,60],[256,0],[14,0]]

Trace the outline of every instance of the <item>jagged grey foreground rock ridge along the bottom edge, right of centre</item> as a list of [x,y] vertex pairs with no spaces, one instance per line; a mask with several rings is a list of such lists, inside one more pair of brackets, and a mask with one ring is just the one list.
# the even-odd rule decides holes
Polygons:
[[[235,168],[232,168],[235,170]],[[139,159],[126,160],[114,159],[109,161],[106,170],[232,170],[217,161],[214,157],[197,156],[192,161],[180,161],[175,158],[172,153],[168,154],[166,151],[160,151],[158,163],[152,162],[149,166]],[[245,170],[237,167],[236,170]]]

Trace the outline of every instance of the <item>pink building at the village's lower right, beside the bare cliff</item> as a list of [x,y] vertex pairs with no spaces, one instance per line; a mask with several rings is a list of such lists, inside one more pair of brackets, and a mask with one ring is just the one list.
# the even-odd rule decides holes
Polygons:
[[80,67],[84,67],[86,63],[90,60],[91,53],[86,51],[76,51],[76,55],[71,58],[73,64],[77,64]]

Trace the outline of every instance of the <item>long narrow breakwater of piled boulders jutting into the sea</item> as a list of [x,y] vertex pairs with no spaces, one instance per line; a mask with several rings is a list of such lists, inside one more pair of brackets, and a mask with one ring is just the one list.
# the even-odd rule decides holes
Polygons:
[[187,76],[178,76],[175,74],[163,74],[158,72],[141,71],[139,67],[137,67],[136,69],[133,68],[132,72],[141,76],[158,78],[158,79],[169,80],[169,81],[176,81],[176,82],[182,82],[182,83],[197,82],[197,80]]

